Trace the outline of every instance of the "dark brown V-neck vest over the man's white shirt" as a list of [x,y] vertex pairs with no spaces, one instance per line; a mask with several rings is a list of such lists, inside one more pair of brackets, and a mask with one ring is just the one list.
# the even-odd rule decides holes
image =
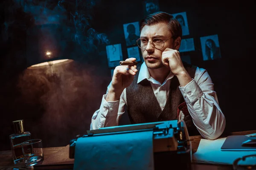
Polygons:
[[[140,71],[142,63],[137,65],[137,70]],[[183,62],[184,68],[189,73],[190,77],[195,77],[196,67]],[[136,74],[131,85],[126,88],[127,97],[127,111],[131,124],[159,122],[177,119],[178,105],[185,102],[179,89],[179,81],[174,76],[170,83],[169,94],[166,105],[161,110],[159,103],[151,88],[150,82],[144,79],[139,84],[137,83],[138,75]],[[199,135],[190,114],[185,115],[184,121],[186,123],[189,135]]]

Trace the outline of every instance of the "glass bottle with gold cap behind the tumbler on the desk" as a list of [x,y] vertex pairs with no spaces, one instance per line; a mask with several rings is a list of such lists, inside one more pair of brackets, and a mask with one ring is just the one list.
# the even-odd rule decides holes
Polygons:
[[15,133],[10,135],[12,157],[14,164],[23,162],[24,156],[22,153],[21,143],[31,139],[30,132],[24,131],[23,120],[15,120],[12,122]]

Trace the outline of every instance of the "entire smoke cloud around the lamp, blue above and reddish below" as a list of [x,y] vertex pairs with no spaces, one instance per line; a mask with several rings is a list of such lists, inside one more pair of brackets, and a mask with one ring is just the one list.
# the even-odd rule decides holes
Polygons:
[[[12,121],[16,119],[24,119],[25,130],[32,133],[32,138],[42,139],[44,147],[66,146],[76,135],[89,130],[91,117],[111,80],[108,70],[99,66],[107,64],[107,57],[100,49],[109,43],[108,37],[90,26],[97,3],[97,0],[3,3],[6,9],[2,42],[12,51],[6,53],[2,72],[3,77],[12,74],[12,80],[1,89],[3,96],[9,96],[6,108],[11,113],[6,117],[8,130],[2,145],[5,150],[9,148],[7,136],[13,133]],[[35,62],[46,50],[53,57],[70,60],[27,68],[30,61]]]

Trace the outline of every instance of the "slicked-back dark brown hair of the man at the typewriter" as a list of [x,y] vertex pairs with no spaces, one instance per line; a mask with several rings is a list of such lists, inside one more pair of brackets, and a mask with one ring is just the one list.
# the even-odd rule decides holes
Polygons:
[[182,29],[180,23],[175,17],[166,12],[155,12],[153,14],[149,14],[147,17],[140,21],[140,31],[145,25],[151,26],[157,23],[167,23],[169,30],[172,32],[172,36],[182,37]]

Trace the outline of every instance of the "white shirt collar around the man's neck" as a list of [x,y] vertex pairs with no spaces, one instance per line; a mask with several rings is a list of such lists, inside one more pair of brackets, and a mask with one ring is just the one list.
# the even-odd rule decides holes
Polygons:
[[[174,77],[174,74],[172,74],[172,72],[170,71],[170,74],[166,77],[166,80],[163,82],[163,84],[165,84],[167,80],[172,79],[172,77]],[[144,79],[147,79],[148,81],[151,81],[153,83],[157,82],[153,77],[150,76],[145,62],[143,62],[142,65],[140,66],[140,72],[137,83],[140,83]]]

